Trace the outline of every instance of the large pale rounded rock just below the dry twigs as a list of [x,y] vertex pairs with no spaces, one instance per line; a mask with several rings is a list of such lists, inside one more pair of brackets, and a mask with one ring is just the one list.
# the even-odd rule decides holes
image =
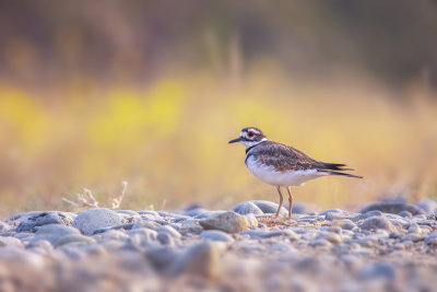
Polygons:
[[91,235],[95,230],[121,225],[123,219],[117,212],[105,208],[93,208],[79,212],[73,221],[73,227],[83,234]]

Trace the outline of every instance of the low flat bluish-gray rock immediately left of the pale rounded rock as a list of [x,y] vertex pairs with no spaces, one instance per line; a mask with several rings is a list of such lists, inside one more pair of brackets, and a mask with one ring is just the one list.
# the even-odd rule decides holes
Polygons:
[[71,226],[73,222],[70,214],[58,211],[24,213],[15,220],[20,221],[16,232],[35,232],[36,227],[47,224]]

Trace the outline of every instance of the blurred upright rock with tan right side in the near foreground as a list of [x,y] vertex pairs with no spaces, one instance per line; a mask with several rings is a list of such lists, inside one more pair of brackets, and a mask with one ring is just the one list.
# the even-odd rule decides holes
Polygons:
[[174,262],[170,276],[191,275],[202,279],[215,279],[218,275],[220,248],[210,241],[191,246]]

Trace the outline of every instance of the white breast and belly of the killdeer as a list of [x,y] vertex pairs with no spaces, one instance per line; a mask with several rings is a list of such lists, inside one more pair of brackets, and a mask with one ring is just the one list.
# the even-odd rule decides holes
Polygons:
[[291,171],[282,173],[275,171],[273,166],[267,166],[255,161],[253,156],[249,156],[247,159],[247,168],[252,175],[262,182],[269,185],[282,187],[300,186],[309,179],[328,175],[327,173],[317,172],[317,170]]

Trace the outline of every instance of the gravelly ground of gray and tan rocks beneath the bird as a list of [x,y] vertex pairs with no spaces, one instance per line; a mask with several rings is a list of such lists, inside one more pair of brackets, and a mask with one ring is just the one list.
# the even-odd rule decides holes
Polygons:
[[272,222],[276,208],[15,214],[0,222],[0,291],[437,289],[437,202],[296,205]]

